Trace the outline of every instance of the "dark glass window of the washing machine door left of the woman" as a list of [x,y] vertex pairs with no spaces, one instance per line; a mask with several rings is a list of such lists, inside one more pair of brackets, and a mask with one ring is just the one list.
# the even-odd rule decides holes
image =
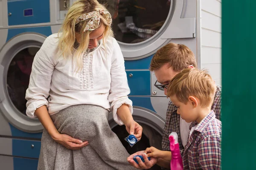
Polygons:
[[39,47],[28,47],[19,51],[12,59],[7,72],[7,91],[13,105],[20,113],[26,115],[26,89],[33,59]]

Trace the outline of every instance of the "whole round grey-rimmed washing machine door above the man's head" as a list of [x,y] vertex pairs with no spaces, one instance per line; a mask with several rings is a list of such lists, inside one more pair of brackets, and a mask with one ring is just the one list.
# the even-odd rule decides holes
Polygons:
[[98,0],[113,18],[126,60],[154,54],[172,38],[195,37],[195,17],[183,18],[187,0]]

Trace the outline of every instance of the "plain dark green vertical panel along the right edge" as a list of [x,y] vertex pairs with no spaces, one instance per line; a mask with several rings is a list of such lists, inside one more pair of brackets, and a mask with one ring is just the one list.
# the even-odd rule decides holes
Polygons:
[[256,0],[222,0],[222,170],[256,170]]

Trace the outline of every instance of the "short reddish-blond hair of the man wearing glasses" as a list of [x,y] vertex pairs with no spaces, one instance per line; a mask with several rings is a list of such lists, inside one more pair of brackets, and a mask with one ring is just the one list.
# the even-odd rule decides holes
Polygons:
[[183,44],[169,43],[160,48],[151,59],[149,69],[157,70],[166,63],[169,63],[169,67],[176,72],[180,72],[189,65],[197,67],[194,53]]

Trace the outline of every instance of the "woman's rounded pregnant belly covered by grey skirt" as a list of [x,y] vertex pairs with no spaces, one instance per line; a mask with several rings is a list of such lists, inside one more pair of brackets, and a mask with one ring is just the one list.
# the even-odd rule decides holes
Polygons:
[[[60,133],[92,142],[109,132],[108,110],[96,105],[74,105],[51,116]],[[106,135],[106,134],[105,134]]]

